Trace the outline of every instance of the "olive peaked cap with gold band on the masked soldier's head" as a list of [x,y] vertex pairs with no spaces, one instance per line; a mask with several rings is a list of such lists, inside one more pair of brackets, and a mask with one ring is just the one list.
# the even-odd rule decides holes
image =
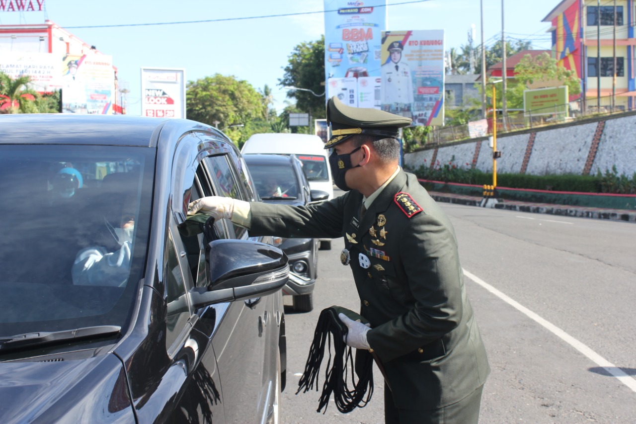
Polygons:
[[397,137],[397,129],[411,125],[411,118],[373,108],[353,108],[338,97],[327,102],[327,122],[331,126],[331,138],[324,148],[330,148],[356,134],[368,134],[385,138]]

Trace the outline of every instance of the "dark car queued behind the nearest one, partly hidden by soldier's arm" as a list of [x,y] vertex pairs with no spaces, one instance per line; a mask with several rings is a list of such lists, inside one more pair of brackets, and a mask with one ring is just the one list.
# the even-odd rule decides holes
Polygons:
[[[327,192],[310,189],[303,164],[296,155],[246,154],[243,157],[263,202],[306,206],[329,197]],[[272,242],[289,258],[291,272],[283,294],[293,297],[294,311],[311,311],[314,309],[318,239],[273,237]]]

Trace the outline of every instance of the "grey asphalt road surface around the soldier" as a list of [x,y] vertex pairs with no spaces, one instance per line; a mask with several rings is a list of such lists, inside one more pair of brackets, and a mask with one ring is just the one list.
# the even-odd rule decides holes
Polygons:
[[[480,423],[636,423],[636,225],[442,207],[492,367]],[[333,401],[316,413],[319,393],[294,394],[321,309],[358,307],[343,241],[332,244],[319,252],[314,311],[287,311],[281,422],[384,423],[377,369],[370,404],[349,414]]]

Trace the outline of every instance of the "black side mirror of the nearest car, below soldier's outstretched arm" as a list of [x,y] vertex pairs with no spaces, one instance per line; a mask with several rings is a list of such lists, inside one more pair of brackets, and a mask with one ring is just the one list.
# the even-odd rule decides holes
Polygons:
[[287,255],[256,241],[214,240],[209,244],[206,266],[211,284],[190,290],[195,308],[268,295],[289,279]]

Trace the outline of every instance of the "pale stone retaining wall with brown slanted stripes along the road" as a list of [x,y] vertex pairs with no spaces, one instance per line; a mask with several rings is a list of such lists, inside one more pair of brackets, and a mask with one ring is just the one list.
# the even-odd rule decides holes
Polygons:
[[[619,174],[636,172],[636,115],[607,120],[525,131],[497,137],[498,173],[595,174],[616,166]],[[444,146],[431,146],[404,154],[404,166],[417,169],[431,161],[440,166],[455,156],[454,164],[492,172],[492,149],[488,139],[473,139]],[[467,165],[468,164],[468,165]]]

